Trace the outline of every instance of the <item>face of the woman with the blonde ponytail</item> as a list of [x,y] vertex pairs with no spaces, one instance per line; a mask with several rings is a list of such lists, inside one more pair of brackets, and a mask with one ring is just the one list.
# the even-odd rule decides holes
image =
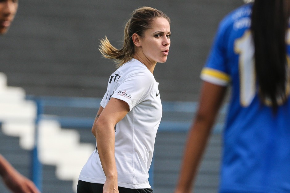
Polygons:
[[155,18],[140,42],[142,52],[149,61],[166,62],[170,46],[170,24],[167,19]]

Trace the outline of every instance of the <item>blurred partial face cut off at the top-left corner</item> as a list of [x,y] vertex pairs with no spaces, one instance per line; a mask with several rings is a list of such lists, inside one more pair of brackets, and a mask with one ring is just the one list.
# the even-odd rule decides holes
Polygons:
[[14,19],[18,0],[0,0],[0,34],[5,34]]

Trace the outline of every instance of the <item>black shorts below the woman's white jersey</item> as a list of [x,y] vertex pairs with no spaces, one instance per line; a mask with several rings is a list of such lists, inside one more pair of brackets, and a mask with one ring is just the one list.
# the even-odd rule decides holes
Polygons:
[[[103,193],[103,187],[104,184],[90,183],[79,180],[77,193]],[[118,186],[118,189],[119,193],[153,193],[151,188],[130,189]]]

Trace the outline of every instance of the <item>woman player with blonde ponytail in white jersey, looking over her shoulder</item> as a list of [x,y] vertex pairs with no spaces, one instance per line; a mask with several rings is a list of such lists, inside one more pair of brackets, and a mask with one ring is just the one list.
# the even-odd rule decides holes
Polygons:
[[96,151],[80,173],[78,193],[153,192],[148,170],[162,116],[153,71],[157,62],[166,62],[169,46],[170,19],[150,7],[133,11],[120,50],[101,40],[101,53],[118,69],[92,127]]

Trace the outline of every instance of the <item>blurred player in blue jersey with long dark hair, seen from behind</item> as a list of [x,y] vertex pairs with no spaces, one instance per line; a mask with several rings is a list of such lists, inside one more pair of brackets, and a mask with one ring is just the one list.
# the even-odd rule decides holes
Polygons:
[[289,15],[289,0],[255,0],[220,23],[175,193],[191,191],[229,85],[219,192],[290,192]]

